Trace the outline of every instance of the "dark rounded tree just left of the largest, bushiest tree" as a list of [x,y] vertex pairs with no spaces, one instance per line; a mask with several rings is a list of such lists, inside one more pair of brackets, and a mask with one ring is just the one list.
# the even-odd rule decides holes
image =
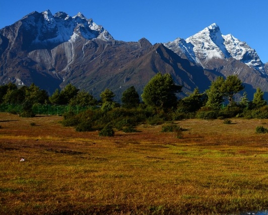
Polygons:
[[122,93],[121,101],[126,108],[137,107],[140,104],[139,94],[135,87],[131,86]]

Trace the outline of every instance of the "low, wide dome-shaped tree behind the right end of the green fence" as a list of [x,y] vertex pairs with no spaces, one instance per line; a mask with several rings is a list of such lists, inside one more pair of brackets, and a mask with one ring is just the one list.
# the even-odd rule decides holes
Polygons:
[[95,106],[97,100],[93,98],[88,92],[82,90],[77,93],[77,95],[70,100],[70,105],[79,106]]

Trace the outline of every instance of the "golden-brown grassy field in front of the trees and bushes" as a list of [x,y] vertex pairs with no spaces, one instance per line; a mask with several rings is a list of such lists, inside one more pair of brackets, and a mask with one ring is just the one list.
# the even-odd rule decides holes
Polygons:
[[[0,113],[0,214],[239,214],[268,208],[268,119],[77,132]],[[267,124],[266,124],[267,123]],[[24,162],[20,162],[24,158]]]

